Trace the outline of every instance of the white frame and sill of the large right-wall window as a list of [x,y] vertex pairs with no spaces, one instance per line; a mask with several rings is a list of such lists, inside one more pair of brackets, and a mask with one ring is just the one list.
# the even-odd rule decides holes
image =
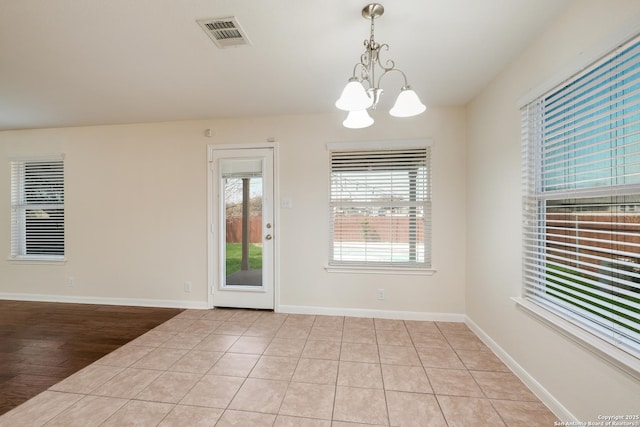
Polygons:
[[[640,35],[628,38],[624,43],[615,43],[614,48],[601,54],[597,60],[593,61],[593,63],[587,67],[580,67],[578,73],[560,85],[545,85],[544,87],[546,87],[546,89],[544,91],[540,91],[534,98],[530,97],[526,102],[519,104],[522,110],[521,118],[523,125],[523,284],[521,288],[522,296],[514,298],[518,305],[527,313],[636,378],[640,378],[640,348],[636,347],[637,343],[629,346],[624,343],[624,340],[616,342],[618,338],[615,337],[615,331],[613,331],[612,334],[613,338],[606,338],[605,333],[598,332],[597,329],[599,325],[589,325],[588,322],[584,320],[584,317],[587,317],[584,316],[584,314],[578,315],[571,313],[571,310],[554,304],[552,300],[546,297],[540,297],[539,295],[536,297],[532,295],[531,289],[527,286],[528,273],[526,270],[531,270],[531,257],[538,256],[541,261],[538,262],[537,266],[540,271],[543,271],[543,273],[540,274],[547,277],[552,275],[552,273],[549,272],[550,269],[546,261],[547,249],[542,246],[542,244],[537,246],[537,248],[543,247],[543,249],[538,249],[542,252],[536,252],[538,255],[535,253],[533,255],[527,255],[527,251],[531,251],[531,247],[528,245],[533,239],[531,237],[533,234],[537,233],[536,238],[545,239],[544,242],[548,242],[548,240],[546,240],[548,224],[545,222],[547,215],[549,215],[548,201],[572,199],[573,203],[575,203],[576,201],[584,202],[589,199],[608,197],[611,199],[610,203],[615,203],[614,200],[616,197],[625,195],[636,196],[640,194],[640,183],[633,182],[623,185],[600,186],[593,184],[592,186],[584,186],[582,183],[575,181],[575,183],[573,183],[575,188],[545,189],[543,184],[546,178],[544,176],[545,163],[544,160],[542,160],[543,148],[541,145],[544,144],[544,139],[534,141],[536,138],[542,138],[540,135],[543,133],[544,108],[536,111],[537,106],[535,104],[537,102],[541,102],[544,99],[560,93],[563,88],[570,86],[573,82],[596,70],[598,66],[607,63],[638,42],[640,42]],[[613,74],[614,73],[611,73],[611,75]],[[599,86],[596,86],[596,88],[598,87]],[[613,94],[614,92],[612,91],[611,93]],[[531,110],[529,110],[530,108]],[[593,123],[595,123],[595,121]],[[611,144],[615,146],[614,142]],[[620,156],[620,154],[616,154],[616,156]],[[569,185],[569,187],[571,187],[571,185]],[[535,223],[531,222],[532,218],[536,218]],[[529,257],[529,260],[527,257]],[[527,265],[527,262],[529,262],[529,265]],[[581,270],[582,266],[580,267],[580,271]],[[531,274],[530,271],[529,274]],[[598,274],[600,274],[600,271],[598,271]],[[611,279],[613,280],[613,276]],[[615,329],[615,326],[613,329]]]

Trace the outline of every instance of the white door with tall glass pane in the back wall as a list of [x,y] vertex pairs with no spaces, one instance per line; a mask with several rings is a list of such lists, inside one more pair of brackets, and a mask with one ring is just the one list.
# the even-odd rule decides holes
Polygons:
[[273,148],[210,148],[210,305],[274,308]]

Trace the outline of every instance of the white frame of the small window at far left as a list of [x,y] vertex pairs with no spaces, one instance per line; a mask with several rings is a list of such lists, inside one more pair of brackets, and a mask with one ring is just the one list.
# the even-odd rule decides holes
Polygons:
[[[44,262],[58,263],[66,261],[67,245],[66,245],[66,212],[65,212],[65,161],[64,155],[52,156],[25,156],[11,157],[9,159],[11,170],[10,182],[10,198],[11,198],[11,225],[10,225],[10,255],[9,260],[12,262]],[[33,203],[27,201],[26,193],[26,169],[29,165],[49,165],[59,164],[60,173],[52,175],[50,184],[57,185],[61,188],[62,202],[40,202]],[[44,177],[45,174],[35,175]],[[53,244],[61,246],[62,253],[28,253],[28,232],[27,232],[27,211],[30,209],[53,209],[61,212],[61,221],[63,230],[62,237],[56,237]],[[46,232],[45,232],[46,233]]]

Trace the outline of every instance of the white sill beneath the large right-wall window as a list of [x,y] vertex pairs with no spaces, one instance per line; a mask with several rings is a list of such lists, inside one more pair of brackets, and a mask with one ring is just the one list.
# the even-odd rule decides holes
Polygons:
[[533,301],[524,298],[511,299],[515,301],[520,309],[533,316],[536,320],[541,321],[551,329],[569,338],[574,343],[600,357],[615,368],[631,375],[636,380],[640,380],[640,359],[637,357],[601,340],[583,328],[553,314]]

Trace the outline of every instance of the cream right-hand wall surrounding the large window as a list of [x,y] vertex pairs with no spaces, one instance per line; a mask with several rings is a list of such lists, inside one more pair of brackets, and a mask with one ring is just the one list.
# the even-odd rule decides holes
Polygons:
[[467,315],[557,400],[556,409],[583,421],[637,414],[640,383],[543,326],[510,300],[520,295],[521,285],[516,103],[633,27],[640,28],[637,0],[575,1],[467,110]]

